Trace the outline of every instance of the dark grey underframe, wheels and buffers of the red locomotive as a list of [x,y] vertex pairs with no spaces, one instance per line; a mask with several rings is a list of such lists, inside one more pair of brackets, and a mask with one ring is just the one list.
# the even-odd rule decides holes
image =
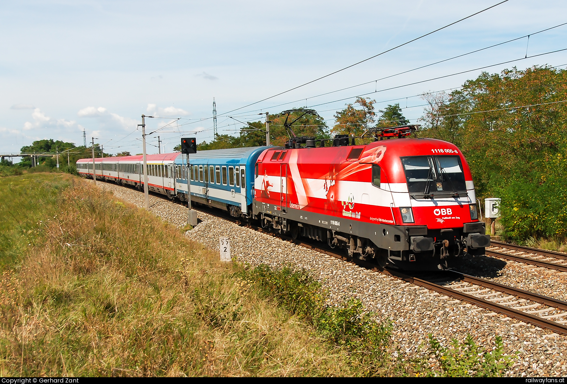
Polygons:
[[253,217],[263,228],[292,238],[326,242],[343,249],[346,257],[388,264],[402,270],[443,270],[456,266],[466,254],[484,254],[490,244],[485,223],[466,223],[460,228],[428,229],[425,225],[372,224],[314,214],[255,201]]

